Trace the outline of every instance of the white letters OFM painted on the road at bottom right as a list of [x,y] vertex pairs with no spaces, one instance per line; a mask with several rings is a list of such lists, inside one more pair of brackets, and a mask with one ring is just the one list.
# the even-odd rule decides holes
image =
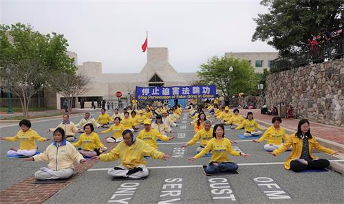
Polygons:
[[259,190],[264,192],[269,199],[291,199],[286,191],[277,185],[274,179],[268,177],[257,177],[253,179],[253,181],[256,182]]

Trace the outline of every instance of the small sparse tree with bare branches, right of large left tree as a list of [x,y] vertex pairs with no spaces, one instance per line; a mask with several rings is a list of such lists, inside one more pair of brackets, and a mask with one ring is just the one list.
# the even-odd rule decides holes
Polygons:
[[87,90],[89,76],[85,73],[55,72],[50,74],[50,87],[68,99],[68,110],[72,111],[73,98]]

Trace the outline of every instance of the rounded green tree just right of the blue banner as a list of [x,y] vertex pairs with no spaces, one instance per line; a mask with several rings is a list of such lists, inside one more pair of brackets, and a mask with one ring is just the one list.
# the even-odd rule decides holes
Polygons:
[[[233,67],[232,72],[229,67]],[[257,87],[258,78],[248,60],[213,56],[207,63],[200,65],[200,69],[197,72],[200,81],[215,84],[226,98],[240,92],[250,94]]]

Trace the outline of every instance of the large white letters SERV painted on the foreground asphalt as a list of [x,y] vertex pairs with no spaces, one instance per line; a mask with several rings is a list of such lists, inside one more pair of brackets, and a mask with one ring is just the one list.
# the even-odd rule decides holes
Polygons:
[[183,179],[169,178],[164,180],[159,196],[158,204],[183,203],[182,202],[182,183]]

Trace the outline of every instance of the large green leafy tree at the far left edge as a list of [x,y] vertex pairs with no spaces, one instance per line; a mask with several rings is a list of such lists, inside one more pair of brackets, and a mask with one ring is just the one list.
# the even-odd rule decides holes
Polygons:
[[[62,34],[43,35],[22,23],[0,25],[0,82],[14,90],[14,95],[21,100],[25,117],[29,116],[30,99],[47,84],[45,73],[76,71],[74,59],[67,56],[67,46]],[[10,76],[11,73],[14,76]],[[9,83],[9,78],[16,80]],[[15,91],[17,89],[21,91]]]

